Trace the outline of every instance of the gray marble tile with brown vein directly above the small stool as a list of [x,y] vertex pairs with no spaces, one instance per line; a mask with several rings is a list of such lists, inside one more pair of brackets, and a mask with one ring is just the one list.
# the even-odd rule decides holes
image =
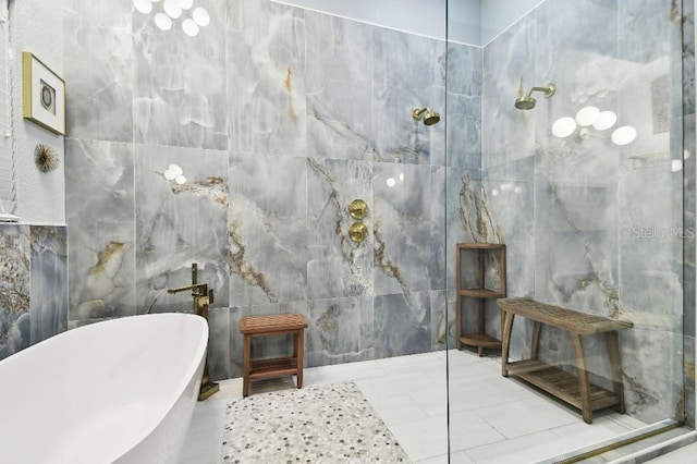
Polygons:
[[307,289],[304,158],[230,168],[230,295],[235,305],[303,301]]

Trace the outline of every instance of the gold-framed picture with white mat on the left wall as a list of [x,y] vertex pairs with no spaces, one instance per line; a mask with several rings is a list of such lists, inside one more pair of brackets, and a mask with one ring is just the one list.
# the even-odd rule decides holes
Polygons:
[[65,82],[30,51],[22,52],[22,107],[25,119],[65,135]]

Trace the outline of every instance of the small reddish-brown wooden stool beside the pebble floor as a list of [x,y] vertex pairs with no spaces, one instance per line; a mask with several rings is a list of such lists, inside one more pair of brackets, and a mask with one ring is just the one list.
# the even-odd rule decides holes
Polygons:
[[[243,317],[240,331],[244,334],[242,365],[242,395],[249,395],[249,380],[297,376],[297,388],[303,388],[303,331],[307,320],[302,314]],[[261,335],[293,334],[293,355],[274,359],[252,361],[252,338]]]

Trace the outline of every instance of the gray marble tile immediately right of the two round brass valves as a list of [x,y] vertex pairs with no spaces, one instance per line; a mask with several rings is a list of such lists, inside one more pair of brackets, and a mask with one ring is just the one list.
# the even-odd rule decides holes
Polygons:
[[372,236],[377,295],[430,289],[430,179],[428,166],[375,166]]

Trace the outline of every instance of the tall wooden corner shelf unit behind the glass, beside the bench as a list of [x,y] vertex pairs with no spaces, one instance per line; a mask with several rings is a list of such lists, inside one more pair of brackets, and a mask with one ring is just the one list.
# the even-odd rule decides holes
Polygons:
[[[477,281],[474,286],[467,282],[463,282],[463,254],[469,254],[469,260],[477,260]],[[499,262],[499,289],[486,288],[487,257],[490,254],[497,255]],[[496,339],[486,333],[486,305],[487,300],[498,300],[505,297],[505,245],[501,243],[458,243],[456,245],[455,255],[455,282],[456,282],[456,337],[457,350],[462,345],[474,346],[478,349],[479,356],[484,355],[485,349],[500,350],[501,340]],[[478,322],[476,331],[473,329],[464,330],[463,328],[463,298],[478,300]],[[503,333],[503,317],[501,318],[501,333]]]

